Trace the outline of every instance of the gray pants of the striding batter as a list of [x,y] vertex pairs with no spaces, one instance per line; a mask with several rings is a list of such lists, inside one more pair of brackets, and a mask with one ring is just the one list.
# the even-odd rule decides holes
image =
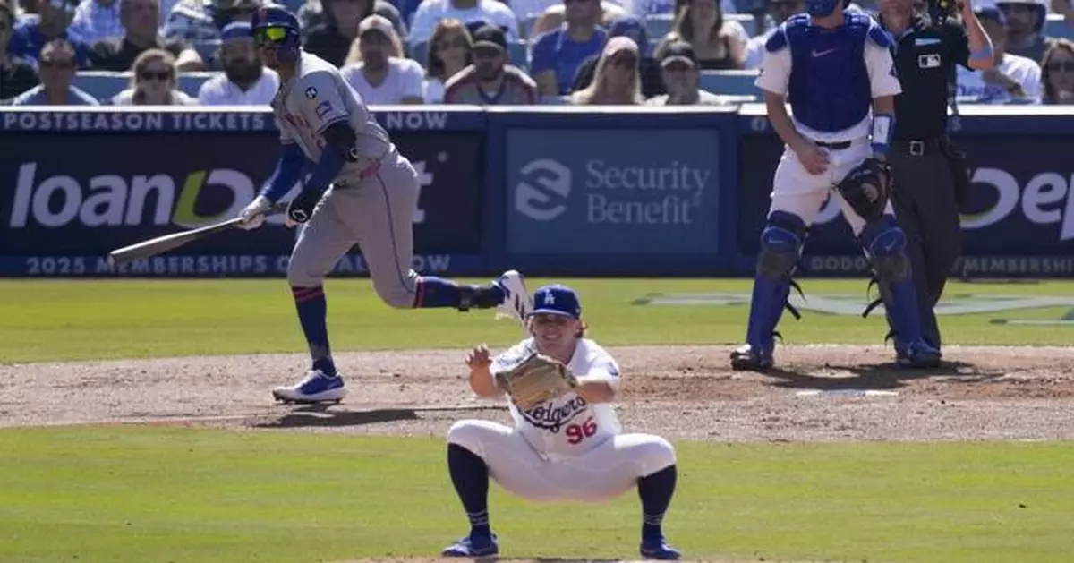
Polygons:
[[369,269],[377,295],[393,307],[413,306],[418,273],[413,262],[413,213],[418,172],[392,150],[380,170],[346,187],[333,186],[314,210],[291,251],[287,279],[316,287],[355,244]]

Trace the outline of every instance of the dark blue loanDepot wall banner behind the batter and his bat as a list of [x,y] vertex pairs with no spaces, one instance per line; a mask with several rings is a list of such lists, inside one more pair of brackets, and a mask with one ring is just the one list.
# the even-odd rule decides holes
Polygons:
[[[416,260],[479,254],[483,133],[397,133],[395,142],[421,184]],[[284,227],[282,215],[122,271],[104,261],[115,248],[234,217],[268,178],[278,149],[275,132],[8,138],[0,159],[0,275],[281,274],[297,232]],[[359,248],[351,251],[345,260],[355,262],[338,273],[364,272]],[[448,264],[416,266],[431,272]]]

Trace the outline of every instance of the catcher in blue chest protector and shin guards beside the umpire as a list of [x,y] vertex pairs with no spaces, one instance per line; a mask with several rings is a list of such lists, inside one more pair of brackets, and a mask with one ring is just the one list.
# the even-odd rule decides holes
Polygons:
[[765,44],[756,84],[786,149],[760,234],[745,345],[731,353],[736,370],[772,365],[792,274],[829,193],[879,278],[895,324],[897,362],[924,366],[939,361],[937,349],[921,338],[906,236],[888,201],[885,155],[895,96],[901,91],[888,52],[891,40],[868,15],[844,13],[843,2],[808,0],[808,13],[788,18]]

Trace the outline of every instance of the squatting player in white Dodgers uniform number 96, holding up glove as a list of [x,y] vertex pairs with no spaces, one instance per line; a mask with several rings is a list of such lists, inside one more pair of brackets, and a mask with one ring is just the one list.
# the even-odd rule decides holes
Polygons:
[[450,557],[499,552],[489,524],[489,478],[536,502],[603,503],[637,487],[640,552],[676,560],[661,522],[676,487],[676,452],[651,434],[623,434],[612,401],[620,389],[615,360],[583,337],[578,294],[562,285],[534,294],[531,337],[489,357],[483,345],[467,357],[478,396],[507,395],[514,427],[461,420],[448,431],[448,470],[470,532],[444,549]]

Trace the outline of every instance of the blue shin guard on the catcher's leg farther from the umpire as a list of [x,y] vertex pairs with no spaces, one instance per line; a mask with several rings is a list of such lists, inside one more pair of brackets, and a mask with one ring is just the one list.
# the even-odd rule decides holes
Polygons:
[[[771,350],[772,335],[794,282],[790,279],[806,241],[806,223],[798,216],[773,212],[760,234],[757,272],[750,301],[750,326],[746,343],[760,350]],[[798,314],[792,308],[792,313]]]

